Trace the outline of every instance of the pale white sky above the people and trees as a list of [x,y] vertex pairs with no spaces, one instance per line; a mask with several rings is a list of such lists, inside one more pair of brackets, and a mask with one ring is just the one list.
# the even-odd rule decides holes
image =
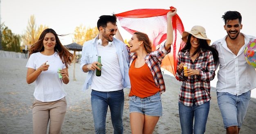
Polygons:
[[[1,23],[14,34],[24,34],[31,15],[36,26],[45,25],[54,29],[63,45],[72,43],[72,34],[81,24],[97,26],[101,15],[112,15],[134,9],[170,9],[174,6],[184,29],[190,31],[195,25],[206,29],[207,37],[213,41],[227,35],[222,15],[226,11],[238,11],[242,15],[241,32],[256,36],[256,0],[0,0]],[[117,24],[124,39],[130,35]]]

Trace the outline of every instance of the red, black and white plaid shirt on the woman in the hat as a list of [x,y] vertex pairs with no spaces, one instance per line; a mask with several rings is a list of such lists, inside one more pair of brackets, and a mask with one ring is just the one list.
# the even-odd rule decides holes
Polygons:
[[[176,76],[182,81],[180,89],[179,101],[185,106],[196,106],[204,104],[211,99],[210,95],[210,80],[215,77],[215,64],[213,61],[212,52],[209,50],[200,50],[199,57],[192,62],[189,56],[189,50],[178,53],[178,63],[185,63],[187,68],[196,69],[200,71],[199,76],[184,76],[184,71],[176,72]],[[177,67],[178,69],[178,67]]]

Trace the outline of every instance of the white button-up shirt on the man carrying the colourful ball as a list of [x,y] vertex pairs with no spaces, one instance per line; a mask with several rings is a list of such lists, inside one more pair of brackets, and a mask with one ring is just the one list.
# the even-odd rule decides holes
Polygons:
[[[244,35],[244,34],[243,34]],[[245,61],[244,50],[251,39],[256,37],[244,35],[245,45],[240,48],[235,55],[227,47],[225,36],[223,39],[215,41],[212,46],[216,46],[219,53],[219,60],[216,68],[220,65],[218,71],[217,92],[227,92],[232,95],[241,95],[256,88],[256,71]]]

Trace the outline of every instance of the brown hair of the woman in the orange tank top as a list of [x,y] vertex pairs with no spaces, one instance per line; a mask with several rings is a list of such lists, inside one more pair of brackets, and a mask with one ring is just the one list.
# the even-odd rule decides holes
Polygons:
[[143,41],[144,48],[147,53],[152,52],[152,45],[151,45],[150,39],[148,38],[147,34],[145,34],[143,32],[135,32],[134,35],[137,36],[138,41]]

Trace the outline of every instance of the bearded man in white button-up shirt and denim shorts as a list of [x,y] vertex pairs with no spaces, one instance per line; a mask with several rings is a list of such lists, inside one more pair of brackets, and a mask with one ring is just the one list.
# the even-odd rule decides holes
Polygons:
[[254,36],[240,33],[242,16],[237,11],[227,11],[222,15],[227,35],[212,44],[219,53],[216,68],[218,105],[227,134],[238,134],[245,117],[251,90],[256,87],[256,71],[244,56],[244,50]]

